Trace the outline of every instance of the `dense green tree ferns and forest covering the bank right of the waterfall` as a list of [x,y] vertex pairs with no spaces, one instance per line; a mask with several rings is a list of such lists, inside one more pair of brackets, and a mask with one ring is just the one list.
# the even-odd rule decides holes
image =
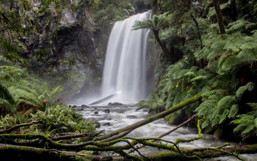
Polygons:
[[[158,3],[162,6],[161,12],[166,12],[165,20],[162,21],[165,23],[159,29],[162,43],[159,44],[165,44],[168,48],[168,44],[177,42],[175,54],[182,51],[184,56],[176,63],[167,63],[172,65],[157,82],[155,93],[148,102],[141,102],[140,105],[161,112],[164,106],[169,108],[202,92],[200,104],[191,104],[183,111],[185,115],[197,112],[205,133],[219,130],[217,137],[233,132],[239,133],[242,140],[256,137],[257,21],[252,8],[256,6],[256,1],[244,4],[229,0],[220,5],[222,13],[226,13],[223,15],[226,34],[220,34],[214,7],[205,1],[201,5],[205,7],[205,12],[209,10],[207,18],[194,14],[197,7],[193,7],[192,2],[183,5],[173,3],[178,7],[187,5],[188,8],[182,11],[181,8],[169,8],[171,1]],[[235,12],[238,13],[237,17],[233,15]],[[175,18],[178,15],[180,17]],[[134,27],[150,28],[145,24],[151,21],[155,26],[159,25],[155,18],[154,15],[150,20],[137,22]],[[151,31],[154,32],[153,29]],[[177,111],[166,119],[173,123],[181,112]]]

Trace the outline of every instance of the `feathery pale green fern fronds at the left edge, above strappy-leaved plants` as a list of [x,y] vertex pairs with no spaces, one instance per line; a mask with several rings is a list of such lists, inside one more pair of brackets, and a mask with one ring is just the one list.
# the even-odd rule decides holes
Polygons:
[[29,83],[25,73],[15,66],[0,67],[0,106],[11,113],[17,113],[19,109],[23,115],[28,115],[32,109],[44,111],[57,101],[61,86],[49,91],[47,83],[42,86]]

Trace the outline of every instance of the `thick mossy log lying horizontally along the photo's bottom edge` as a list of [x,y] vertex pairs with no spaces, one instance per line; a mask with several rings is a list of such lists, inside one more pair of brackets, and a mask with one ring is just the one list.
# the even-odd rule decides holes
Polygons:
[[[240,145],[235,147],[216,147],[216,148],[195,148],[195,149],[182,149],[184,154],[187,156],[197,155],[204,159],[209,157],[220,157],[222,155],[232,155],[233,152],[237,154],[254,154],[257,153],[257,144],[253,145]],[[0,144],[0,155],[8,156],[8,159],[14,160],[95,160],[95,161],[111,161],[111,160],[124,160],[122,157],[110,157],[102,155],[88,155],[80,154],[68,151],[58,150],[47,150],[41,148],[27,147],[27,146],[14,146],[10,144]],[[234,155],[234,154],[233,154]],[[75,157],[76,156],[76,157]],[[195,160],[197,157],[186,157],[179,152],[161,152],[154,154],[144,154],[145,157],[153,161],[164,161],[164,160]],[[138,156],[135,156],[138,157]],[[141,160],[147,160],[143,157],[139,157]]]

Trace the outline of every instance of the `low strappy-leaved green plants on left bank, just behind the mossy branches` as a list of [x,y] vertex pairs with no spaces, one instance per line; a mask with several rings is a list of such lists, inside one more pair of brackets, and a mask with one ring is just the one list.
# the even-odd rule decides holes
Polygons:
[[31,114],[31,121],[43,121],[41,124],[34,124],[29,131],[32,133],[59,136],[67,133],[88,133],[84,141],[98,136],[103,131],[95,130],[95,125],[89,120],[84,120],[82,115],[62,104],[54,104],[46,111],[37,111]]

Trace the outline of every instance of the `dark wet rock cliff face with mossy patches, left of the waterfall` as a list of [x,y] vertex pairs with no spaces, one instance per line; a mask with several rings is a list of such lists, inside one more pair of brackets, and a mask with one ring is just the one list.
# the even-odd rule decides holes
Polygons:
[[38,32],[26,38],[36,53],[24,48],[28,70],[52,86],[63,85],[68,99],[76,93],[81,96],[97,92],[112,23],[97,24],[90,7],[79,5],[77,0],[62,3],[59,8],[54,3],[47,8],[39,0],[31,2],[33,8],[29,12],[16,7],[17,12],[28,14],[39,23]]

